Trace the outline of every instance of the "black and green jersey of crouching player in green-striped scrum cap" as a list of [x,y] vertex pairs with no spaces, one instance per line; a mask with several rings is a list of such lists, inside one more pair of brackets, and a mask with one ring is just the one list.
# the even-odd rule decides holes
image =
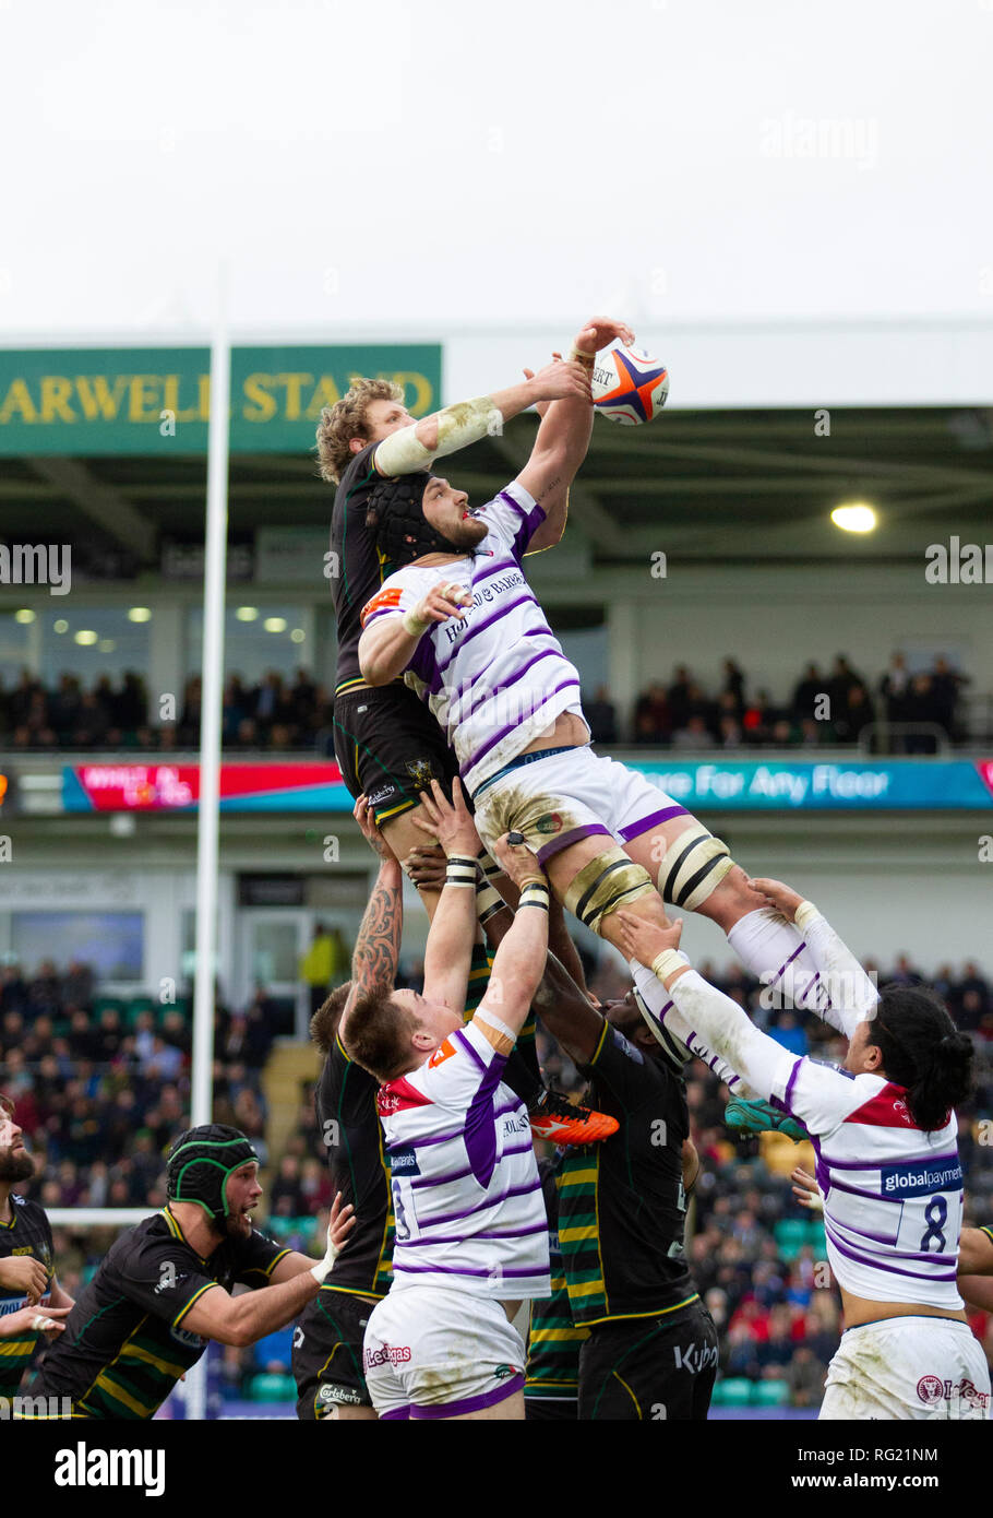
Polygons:
[[226,1239],[209,1258],[165,1208],[111,1246],[45,1353],[30,1395],[68,1398],[73,1418],[152,1418],[208,1340],[183,1328],[212,1286],[265,1286],[283,1255],[264,1234]]

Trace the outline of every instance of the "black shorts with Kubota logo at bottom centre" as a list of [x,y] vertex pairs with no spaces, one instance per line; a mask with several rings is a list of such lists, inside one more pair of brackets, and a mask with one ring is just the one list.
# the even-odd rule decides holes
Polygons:
[[717,1377],[703,1302],[659,1318],[591,1324],[579,1351],[579,1419],[703,1419]]

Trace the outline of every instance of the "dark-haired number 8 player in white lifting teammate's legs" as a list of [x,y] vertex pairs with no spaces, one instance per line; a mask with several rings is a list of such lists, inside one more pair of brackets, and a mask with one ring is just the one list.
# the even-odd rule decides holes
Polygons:
[[811,902],[778,880],[753,883],[802,926],[822,975],[849,987],[828,1014],[849,1040],[841,1069],[760,1032],[676,952],[679,921],[659,929],[629,912],[619,918],[656,1022],[678,1037],[697,1031],[811,1135],[846,1322],[820,1416],[985,1418],[990,1375],[955,1284],[963,1167],[954,1108],[970,1090],[972,1043],[928,993],[876,993]]

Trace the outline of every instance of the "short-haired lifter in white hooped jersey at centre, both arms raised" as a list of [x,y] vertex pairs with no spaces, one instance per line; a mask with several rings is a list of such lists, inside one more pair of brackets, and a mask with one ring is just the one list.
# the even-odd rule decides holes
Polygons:
[[[424,956],[424,994],[359,997],[347,1046],[381,1079],[396,1243],[393,1286],[365,1330],[384,1419],[523,1419],[522,1298],[549,1296],[547,1219],[528,1113],[500,1079],[544,972],[549,891],[526,847],[494,844],[520,888],[487,993],[462,1026],[476,927],[475,829],[453,785],[438,805],[449,856]],[[428,808],[428,797],[423,805]]]

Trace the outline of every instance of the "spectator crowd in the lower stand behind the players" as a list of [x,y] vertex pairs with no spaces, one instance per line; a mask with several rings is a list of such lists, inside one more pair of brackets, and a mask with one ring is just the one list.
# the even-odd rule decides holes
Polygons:
[[[879,982],[919,984],[923,976],[901,956],[888,973],[867,964]],[[417,987],[420,964],[406,967]],[[746,972],[702,964],[702,973],[743,1005],[772,1037],[796,1053],[841,1058],[832,1029],[816,1019],[769,1005],[769,993]],[[600,999],[626,982],[606,956],[588,965]],[[938,967],[931,978],[978,1050],[978,1088],[960,1110],[970,1222],[993,1217],[993,1146],[981,1142],[993,1119],[993,985],[976,964]],[[271,1050],[273,1016],[258,991],[243,1011],[220,1000],[215,1009],[214,1117],[243,1128],[267,1175],[268,1228],[294,1248],[317,1248],[330,1204],[326,1152],[317,1126],[314,1085],[300,1090],[290,1137],[270,1152],[270,1113],[262,1070]],[[582,1081],[540,1029],[546,1078],[579,1091]],[[39,1160],[30,1193],[45,1207],[139,1207],[165,1202],[164,1155],[190,1123],[190,1013],[185,1002],[158,1006],[102,997],[83,964],[59,970],[52,961],[27,975],[0,970],[0,1090],[17,1102],[17,1120]],[[735,1138],[723,1123],[726,1091],[706,1066],[687,1076],[691,1137],[700,1175],[690,1214],[691,1269],[717,1324],[722,1383],[738,1401],[816,1407],[840,1333],[840,1301],[825,1266],[823,1231],[793,1198],[788,1172],[802,1151],[781,1135]],[[985,1128],[981,1125],[987,1123]],[[807,1157],[808,1169],[813,1169]],[[103,1230],[56,1228],[59,1275],[79,1290],[112,1240]],[[973,1313],[972,1325],[993,1359],[993,1319]],[[290,1336],[250,1351],[224,1351],[221,1381],[230,1395],[249,1395],[261,1377],[276,1377],[288,1395]],[[267,1383],[268,1384],[268,1383]],[[258,1392],[256,1392],[258,1395]],[[276,1394],[274,1394],[276,1395]],[[720,1394],[719,1394],[720,1395]]]

